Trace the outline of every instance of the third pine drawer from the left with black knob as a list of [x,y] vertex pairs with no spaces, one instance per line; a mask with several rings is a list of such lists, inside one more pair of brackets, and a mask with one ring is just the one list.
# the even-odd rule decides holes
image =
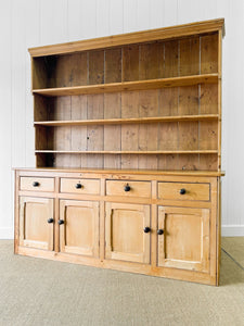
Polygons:
[[106,180],[106,195],[127,197],[151,197],[150,181]]

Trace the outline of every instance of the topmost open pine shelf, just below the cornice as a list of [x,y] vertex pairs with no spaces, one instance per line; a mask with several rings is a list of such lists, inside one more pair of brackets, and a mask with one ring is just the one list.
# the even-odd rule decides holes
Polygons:
[[174,77],[174,78],[111,83],[111,84],[100,84],[100,85],[85,85],[85,86],[61,87],[61,88],[34,89],[33,93],[42,95],[47,97],[77,96],[77,95],[104,93],[104,92],[116,92],[116,91],[146,90],[146,89],[156,89],[156,88],[164,88],[164,87],[191,86],[197,84],[215,84],[215,83],[218,83],[218,74],[205,74],[205,75],[193,75],[193,76],[183,76],[183,77]]

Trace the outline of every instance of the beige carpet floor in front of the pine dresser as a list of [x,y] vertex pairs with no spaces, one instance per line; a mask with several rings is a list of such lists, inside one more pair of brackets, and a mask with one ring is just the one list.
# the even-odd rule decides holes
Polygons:
[[223,238],[219,287],[17,256],[0,241],[0,325],[244,325],[244,238]]

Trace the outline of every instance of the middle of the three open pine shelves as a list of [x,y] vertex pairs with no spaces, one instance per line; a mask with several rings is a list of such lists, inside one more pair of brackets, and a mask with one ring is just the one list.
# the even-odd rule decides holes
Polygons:
[[175,115],[175,116],[154,116],[154,117],[130,117],[130,118],[104,118],[104,120],[75,120],[75,121],[41,121],[35,122],[38,126],[87,126],[87,125],[117,125],[117,124],[147,124],[159,122],[177,121],[216,121],[218,114],[200,114],[200,115]]

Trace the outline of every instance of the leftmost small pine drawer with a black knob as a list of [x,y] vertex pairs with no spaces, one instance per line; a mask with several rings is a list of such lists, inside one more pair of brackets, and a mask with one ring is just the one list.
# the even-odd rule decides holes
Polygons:
[[21,190],[54,191],[54,178],[21,177]]

